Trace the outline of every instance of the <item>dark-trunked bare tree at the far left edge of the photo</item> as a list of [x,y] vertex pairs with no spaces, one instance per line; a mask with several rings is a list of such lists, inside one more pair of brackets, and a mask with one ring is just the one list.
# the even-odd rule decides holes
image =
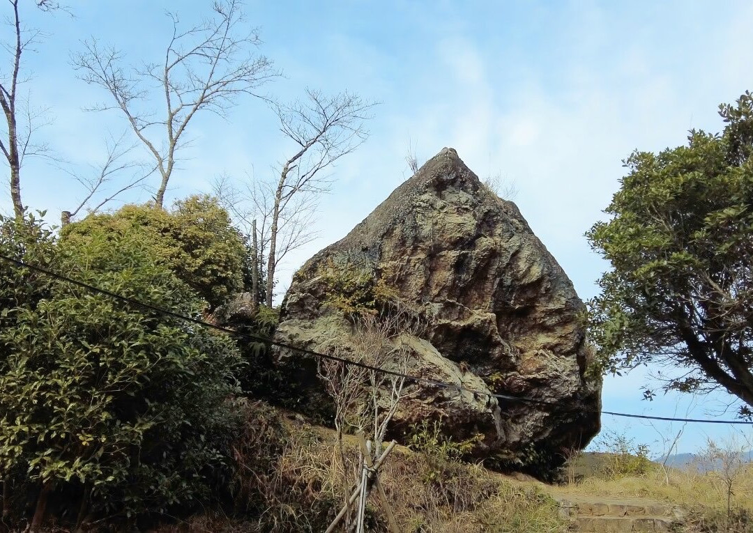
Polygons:
[[[35,110],[29,105],[29,98],[21,98],[20,86],[26,78],[21,77],[21,59],[27,50],[43,37],[36,29],[25,29],[21,21],[19,5],[21,0],[8,0],[12,14],[8,23],[13,29],[13,38],[4,42],[3,47],[10,54],[8,69],[0,69],[0,107],[5,114],[6,131],[0,139],[0,151],[8,160],[10,167],[11,201],[17,217],[25,210],[21,199],[21,167],[25,157],[45,156],[50,154],[44,144],[33,141],[34,133],[48,123],[47,110]],[[52,0],[35,0],[35,5],[43,11],[59,9]]]

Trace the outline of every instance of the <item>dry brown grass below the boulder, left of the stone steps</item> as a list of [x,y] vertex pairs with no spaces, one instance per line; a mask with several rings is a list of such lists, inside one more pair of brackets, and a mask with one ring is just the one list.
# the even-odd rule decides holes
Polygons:
[[[342,461],[334,432],[289,421],[287,425],[285,446],[269,471],[256,472],[252,480],[244,477],[245,502],[239,505],[236,498],[236,512],[227,513],[232,516],[203,514],[178,525],[164,525],[159,533],[324,531],[343,505],[345,487],[355,480],[355,439],[346,439],[346,460]],[[269,427],[267,422],[264,427]],[[255,434],[249,431],[247,438]],[[252,456],[252,450],[245,453],[249,471],[259,458]],[[398,446],[380,471],[380,480],[404,533],[567,530],[556,502],[540,489],[511,483],[476,464],[437,462],[436,457],[429,461]],[[375,533],[389,531],[383,510],[373,497],[367,508],[367,525],[368,531]]]

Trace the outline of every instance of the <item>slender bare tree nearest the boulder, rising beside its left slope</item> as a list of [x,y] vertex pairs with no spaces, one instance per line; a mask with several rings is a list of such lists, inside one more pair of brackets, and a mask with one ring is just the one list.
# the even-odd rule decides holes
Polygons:
[[349,92],[325,96],[306,90],[306,96],[304,101],[274,106],[280,131],[294,143],[294,152],[279,166],[273,186],[264,191],[271,194],[267,306],[272,306],[281,222],[286,217],[294,220],[301,206],[310,206],[312,199],[329,190],[331,181],[325,169],[367,139],[364,123],[377,105]]

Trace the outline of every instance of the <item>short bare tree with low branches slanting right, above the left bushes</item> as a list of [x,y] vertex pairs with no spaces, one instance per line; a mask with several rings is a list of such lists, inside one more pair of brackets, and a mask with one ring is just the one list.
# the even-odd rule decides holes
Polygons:
[[[120,194],[141,187],[146,178],[154,173],[154,168],[149,169],[144,164],[128,158],[134,147],[133,145],[124,146],[123,138],[124,135],[120,136],[119,139],[110,139],[107,142],[105,160],[99,166],[90,166],[90,172],[82,174],[64,169],[64,172],[71,175],[75,181],[78,181],[84,187],[86,193],[75,209],[61,213],[60,223],[62,226],[72,222],[84,208],[87,208],[87,213],[90,215],[98,212],[105,204],[111,202]],[[123,174],[128,174],[129,177],[120,181],[120,186],[117,189],[109,190],[104,196],[99,196],[115,176]]]

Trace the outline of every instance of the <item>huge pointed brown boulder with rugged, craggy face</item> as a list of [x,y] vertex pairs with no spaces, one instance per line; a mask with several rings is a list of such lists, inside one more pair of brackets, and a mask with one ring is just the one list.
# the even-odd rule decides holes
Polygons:
[[[584,304],[517,206],[452,148],[306,262],[285,297],[276,340],[352,349],[353,320],[333,304],[345,285],[325,275],[338,265],[366,273],[420,318],[419,330],[404,336],[410,374],[541,402],[411,384],[394,419],[398,440],[412,423],[442,419],[454,440],[483,435],[477,455],[536,471],[599,431],[601,383],[587,378]],[[321,392],[312,361],[282,349],[276,356],[294,361],[309,394]]]

